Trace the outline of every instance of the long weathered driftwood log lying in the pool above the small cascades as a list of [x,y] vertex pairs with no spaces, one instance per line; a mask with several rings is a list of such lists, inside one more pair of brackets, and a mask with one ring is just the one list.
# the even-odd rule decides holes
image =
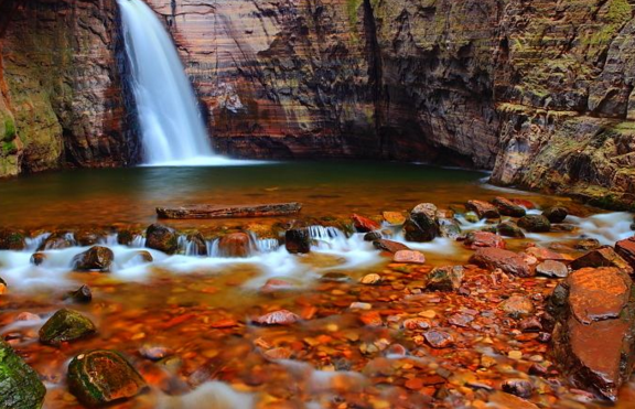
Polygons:
[[232,218],[283,216],[300,212],[301,203],[268,203],[252,205],[189,205],[157,207],[160,218]]

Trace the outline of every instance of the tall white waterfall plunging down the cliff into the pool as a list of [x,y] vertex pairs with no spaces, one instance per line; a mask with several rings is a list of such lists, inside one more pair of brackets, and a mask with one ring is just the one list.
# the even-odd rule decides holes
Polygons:
[[176,49],[141,0],[117,0],[142,132],[143,162],[173,164],[213,157],[196,98]]

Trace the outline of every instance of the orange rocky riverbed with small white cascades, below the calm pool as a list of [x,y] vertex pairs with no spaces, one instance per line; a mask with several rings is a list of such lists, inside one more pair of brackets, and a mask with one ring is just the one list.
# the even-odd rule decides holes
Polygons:
[[626,408],[633,217],[570,207],[4,229],[1,406]]

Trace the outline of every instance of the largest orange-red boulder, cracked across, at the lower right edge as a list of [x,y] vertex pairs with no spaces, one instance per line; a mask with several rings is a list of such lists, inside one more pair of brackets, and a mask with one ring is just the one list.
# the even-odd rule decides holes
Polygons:
[[613,267],[573,271],[549,299],[556,319],[552,353],[582,387],[615,400],[635,363],[635,295]]

